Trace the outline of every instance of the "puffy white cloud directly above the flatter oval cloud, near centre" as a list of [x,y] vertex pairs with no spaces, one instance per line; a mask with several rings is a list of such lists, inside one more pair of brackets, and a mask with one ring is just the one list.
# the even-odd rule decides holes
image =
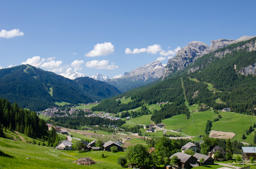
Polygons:
[[114,45],[110,42],[105,42],[101,44],[94,45],[94,50],[91,50],[87,54],[86,57],[94,57],[94,56],[106,56],[108,54],[113,54],[114,52]]

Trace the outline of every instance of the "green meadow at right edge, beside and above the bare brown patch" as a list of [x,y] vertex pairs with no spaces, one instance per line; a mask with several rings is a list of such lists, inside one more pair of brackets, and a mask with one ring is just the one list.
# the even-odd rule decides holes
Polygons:
[[254,131],[249,135],[245,135],[247,138],[244,140],[242,140],[242,134],[246,129],[249,129],[250,126],[253,126],[253,123],[256,121],[255,116],[225,111],[219,114],[222,118],[212,123],[212,130],[233,132],[236,136],[232,140],[237,139],[238,141],[253,144]]

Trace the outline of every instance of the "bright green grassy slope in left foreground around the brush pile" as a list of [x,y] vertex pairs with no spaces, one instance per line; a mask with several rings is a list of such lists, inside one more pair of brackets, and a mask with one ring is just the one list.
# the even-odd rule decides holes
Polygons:
[[[102,158],[101,154],[108,155]],[[121,169],[117,165],[117,158],[124,155],[124,152],[84,152],[55,150],[45,146],[31,145],[24,142],[0,138],[0,168],[27,168],[27,169]],[[30,157],[29,160],[26,157]],[[76,165],[73,161],[90,157],[96,164],[85,166]]]

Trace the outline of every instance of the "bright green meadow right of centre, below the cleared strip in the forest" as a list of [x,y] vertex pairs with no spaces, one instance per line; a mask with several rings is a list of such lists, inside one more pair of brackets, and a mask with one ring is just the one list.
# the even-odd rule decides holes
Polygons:
[[197,136],[205,134],[207,120],[217,118],[217,114],[212,111],[193,112],[191,117],[186,119],[185,114],[173,116],[168,119],[164,119],[162,123],[167,130],[181,129],[180,133]]

